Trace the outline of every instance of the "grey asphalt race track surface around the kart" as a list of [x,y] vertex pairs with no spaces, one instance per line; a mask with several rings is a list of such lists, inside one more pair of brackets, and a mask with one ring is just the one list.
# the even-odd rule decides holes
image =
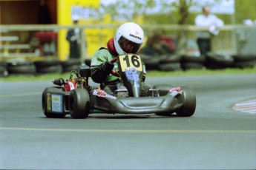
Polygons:
[[0,82],[0,169],[256,169],[256,115],[232,109],[256,98],[256,75],[147,81],[194,89],[195,114],[50,119],[50,81]]

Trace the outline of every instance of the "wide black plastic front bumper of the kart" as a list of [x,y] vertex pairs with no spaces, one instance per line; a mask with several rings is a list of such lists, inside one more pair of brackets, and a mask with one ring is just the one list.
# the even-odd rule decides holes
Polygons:
[[124,114],[174,112],[183,106],[181,95],[172,96],[169,92],[165,96],[139,98],[102,98],[91,95],[91,103],[93,109]]

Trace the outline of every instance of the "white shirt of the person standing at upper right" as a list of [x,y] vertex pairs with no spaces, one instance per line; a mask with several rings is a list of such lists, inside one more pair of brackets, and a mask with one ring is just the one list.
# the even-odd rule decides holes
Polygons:
[[[217,28],[223,27],[224,25],[224,22],[213,14],[209,14],[208,16],[200,14],[195,18],[194,22],[198,27],[209,27],[209,31],[215,35],[218,33]],[[197,37],[210,38],[211,34],[209,31],[198,32]]]

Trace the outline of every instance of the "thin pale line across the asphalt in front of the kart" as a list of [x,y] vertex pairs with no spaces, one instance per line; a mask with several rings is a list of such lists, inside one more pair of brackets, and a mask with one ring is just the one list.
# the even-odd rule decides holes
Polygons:
[[44,132],[99,132],[99,133],[255,133],[256,130],[157,130],[157,129],[42,129],[0,127],[0,130],[44,131]]

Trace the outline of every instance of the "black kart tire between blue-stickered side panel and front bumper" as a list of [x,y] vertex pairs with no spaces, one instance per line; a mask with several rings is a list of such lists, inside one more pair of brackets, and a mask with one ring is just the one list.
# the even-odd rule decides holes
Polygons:
[[86,89],[73,89],[69,98],[69,111],[72,118],[85,119],[90,112],[90,96]]

